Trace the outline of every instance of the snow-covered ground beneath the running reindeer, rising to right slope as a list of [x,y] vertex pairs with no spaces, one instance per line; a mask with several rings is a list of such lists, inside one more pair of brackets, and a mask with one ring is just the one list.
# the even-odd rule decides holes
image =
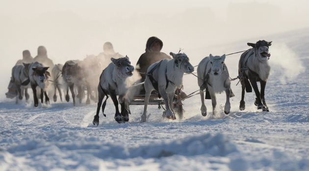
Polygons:
[[[195,53],[241,51],[248,48],[247,41],[258,41],[252,40]],[[237,81],[232,82],[235,97],[229,115],[223,113],[225,95],[218,94],[218,112],[211,117],[206,100],[208,115],[203,117],[197,95],[183,102],[183,120],[162,119],[163,110],[149,106],[146,124],[139,123],[143,106],[130,107],[129,123],[116,123],[111,100],[107,117],[100,113],[96,127],[94,102],[86,106],[84,100],[77,107],[51,102],[34,108],[32,101],[15,105],[15,100],[2,98],[0,170],[308,171],[309,29],[269,36],[267,41],[273,41],[265,93],[270,112],[257,110],[254,93],[246,93],[246,109],[240,111]],[[239,56],[226,59],[232,77]],[[184,76],[184,88],[186,93],[197,90],[197,79]]]

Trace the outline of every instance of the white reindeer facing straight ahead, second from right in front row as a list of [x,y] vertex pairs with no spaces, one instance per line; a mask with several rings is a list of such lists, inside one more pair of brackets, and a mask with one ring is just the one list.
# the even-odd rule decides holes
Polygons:
[[225,91],[227,100],[224,107],[224,113],[229,114],[231,110],[230,97],[233,97],[231,89],[231,81],[229,79],[228,67],[224,64],[225,55],[212,56],[204,58],[198,65],[197,74],[198,85],[200,86],[200,95],[202,100],[201,113],[203,116],[207,115],[207,108],[204,103],[204,90],[206,89],[206,98],[211,99],[212,113],[215,113],[217,105],[216,93]]

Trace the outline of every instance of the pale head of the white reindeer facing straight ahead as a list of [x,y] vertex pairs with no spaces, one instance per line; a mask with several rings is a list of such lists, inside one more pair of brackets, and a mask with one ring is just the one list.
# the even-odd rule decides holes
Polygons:
[[224,60],[225,60],[225,54],[220,56],[212,56],[212,54],[209,55],[210,65],[211,65],[211,74],[214,77],[219,77],[224,70]]

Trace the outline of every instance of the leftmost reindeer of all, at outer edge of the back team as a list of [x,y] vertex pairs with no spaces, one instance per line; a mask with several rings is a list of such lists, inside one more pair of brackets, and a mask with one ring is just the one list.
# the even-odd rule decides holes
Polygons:
[[14,85],[17,90],[17,96],[16,96],[16,104],[18,103],[18,99],[22,100],[23,99],[23,92],[25,91],[25,97],[26,101],[29,99],[29,94],[28,94],[28,87],[29,87],[29,77],[28,77],[28,69],[29,69],[30,64],[25,64],[23,65],[18,64],[15,65],[12,69],[12,80],[14,82]]

